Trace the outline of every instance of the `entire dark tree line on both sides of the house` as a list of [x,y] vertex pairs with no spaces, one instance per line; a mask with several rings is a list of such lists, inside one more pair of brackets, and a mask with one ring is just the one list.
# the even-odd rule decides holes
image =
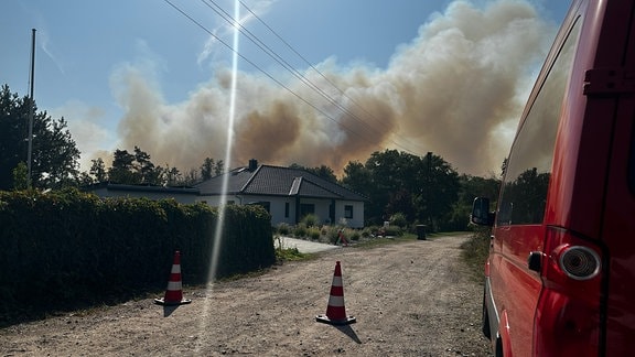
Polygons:
[[[7,85],[0,89],[1,191],[26,188],[24,161],[30,105],[30,98],[12,94]],[[117,149],[109,167],[99,158],[92,161],[88,172],[80,172],[80,153],[64,118],[54,120],[43,111],[33,119],[33,188],[58,190],[103,182],[191,186],[224,172],[223,160],[206,158],[200,167],[182,173],[176,167],[154,164],[151,155],[139,147],[132,152]],[[364,163],[349,162],[341,178],[326,165],[291,167],[306,170],[368,197],[365,217],[370,225],[402,215],[410,223],[461,229],[466,225],[472,199],[495,198],[501,184],[496,177],[460,175],[443,158],[431,152],[424,156],[397,150],[374,152]]]

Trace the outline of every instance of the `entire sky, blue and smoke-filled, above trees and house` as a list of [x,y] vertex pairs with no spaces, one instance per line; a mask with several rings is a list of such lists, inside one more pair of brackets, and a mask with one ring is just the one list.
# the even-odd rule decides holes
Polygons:
[[[160,0],[4,0],[0,6],[3,47],[0,84],[8,84],[20,95],[29,93],[31,29],[36,29],[35,100],[40,110],[67,120],[83,153],[84,170],[90,159],[100,156],[108,161],[108,153],[115,149],[131,150],[133,145],[149,152],[154,163],[176,166],[182,172],[197,167],[206,156],[222,159],[225,155],[222,141],[227,137],[226,78],[233,53],[218,41],[232,43],[232,29],[218,12],[233,14],[235,2],[172,0],[172,3],[198,24]],[[240,150],[233,155],[236,161],[233,166],[256,158],[281,165],[327,164],[337,171],[348,161],[364,162],[370,152],[390,148],[421,155],[433,151],[460,172],[474,174],[487,174],[499,166],[510,143],[509,128],[517,120],[515,113],[521,110],[521,97],[527,94],[540,56],[548,50],[569,7],[569,1],[547,0],[243,0],[243,3],[258,15],[251,17],[241,7],[244,28],[338,104],[324,102],[324,98],[303,86],[279,62],[241,36],[238,48],[244,57],[238,77],[241,89],[237,93],[239,108],[234,130]],[[497,47],[501,51],[495,53],[499,58],[492,58],[485,47],[502,39],[501,33],[513,31],[508,29],[514,26],[508,24],[515,19],[523,19],[515,23],[527,25],[529,30],[524,31],[538,29],[536,41],[528,40],[523,48],[515,47],[523,46],[523,36],[501,40]],[[496,21],[502,25],[494,25]],[[449,35],[455,33],[455,28],[461,35]],[[484,33],[474,34],[481,31]],[[461,39],[460,46],[453,40],[443,40],[445,36]],[[473,55],[454,52],[466,46],[482,55],[469,58]],[[477,119],[469,119],[465,111],[442,108],[427,111],[435,106],[467,105],[467,98],[463,100],[462,96],[469,96],[470,91],[462,95],[461,88],[474,80],[469,80],[467,75],[454,78],[453,85],[439,84],[442,79],[427,72],[452,58],[463,62],[450,69],[440,68],[450,71],[444,77],[465,71],[471,62],[481,63],[476,71],[492,66],[506,68],[501,58],[513,58],[519,51],[526,51],[530,54],[526,57],[531,58],[524,69],[516,68],[514,94],[508,98],[515,102],[515,109],[491,123],[487,138],[477,144],[492,159],[470,164],[473,161],[470,154],[452,149],[462,141],[461,134],[444,136],[460,131],[458,128],[466,123],[476,126]],[[439,58],[442,55],[449,57]],[[424,65],[406,71],[416,66],[417,58],[423,58]],[[311,69],[308,63],[320,72]],[[494,73],[498,76],[502,71]],[[421,80],[401,83],[412,80],[405,79],[409,74],[420,74]],[[486,72],[478,78],[487,77],[495,80]],[[325,78],[337,87],[325,83]],[[423,86],[418,93],[424,94],[426,99],[418,100],[412,93],[403,95],[412,85]],[[458,88],[458,96],[448,100]],[[432,100],[428,97],[434,93],[446,95],[426,101]],[[299,97],[302,99],[298,100]],[[362,105],[355,104],[356,100]],[[342,111],[341,106],[347,110]],[[420,111],[427,113],[424,118],[415,118],[417,106],[423,108]],[[426,127],[430,132],[413,130]],[[494,147],[487,143],[493,132],[505,136]]]

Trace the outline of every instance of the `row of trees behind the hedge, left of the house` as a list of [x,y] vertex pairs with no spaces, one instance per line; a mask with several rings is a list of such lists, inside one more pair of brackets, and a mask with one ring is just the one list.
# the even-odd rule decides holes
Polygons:
[[0,88],[0,190],[23,190],[28,183],[37,190],[86,186],[100,182],[186,186],[208,180],[223,172],[222,160],[203,160],[198,169],[181,173],[179,169],[155,165],[149,153],[138,147],[133,152],[115,150],[112,164],[104,159],[92,160],[88,172],[79,171],[80,152],[64,118],[53,119],[46,111],[37,112],[33,104],[31,180],[28,180],[26,152],[31,99]]

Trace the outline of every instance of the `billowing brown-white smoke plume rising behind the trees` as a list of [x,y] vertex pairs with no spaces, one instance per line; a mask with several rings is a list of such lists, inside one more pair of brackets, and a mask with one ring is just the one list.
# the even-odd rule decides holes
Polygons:
[[[265,75],[239,73],[232,166],[255,158],[341,172],[389,148],[421,156],[432,151],[461,173],[497,174],[552,34],[523,1],[485,9],[456,1],[422,24],[387,68],[318,65],[342,91],[306,69],[337,105],[299,79],[284,82],[292,94]],[[206,156],[223,159],[230,76],[217,73],[186,101],[169,105],[134,68],[120,71],[119,148],[138,145],[155,164],[182,172]]]

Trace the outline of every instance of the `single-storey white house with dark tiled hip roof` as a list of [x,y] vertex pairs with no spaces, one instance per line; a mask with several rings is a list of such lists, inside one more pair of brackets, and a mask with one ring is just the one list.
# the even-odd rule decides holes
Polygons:
[[[224,181],[227,191],[223,195]],[[343,224],[364,227],[366,197],[305,170],[259,165],[232,170],[194,186],[197,202],[212,206],[222,204],[261,205],[271,215],[271,224],[298,224],[313,214],[320,224]]]

